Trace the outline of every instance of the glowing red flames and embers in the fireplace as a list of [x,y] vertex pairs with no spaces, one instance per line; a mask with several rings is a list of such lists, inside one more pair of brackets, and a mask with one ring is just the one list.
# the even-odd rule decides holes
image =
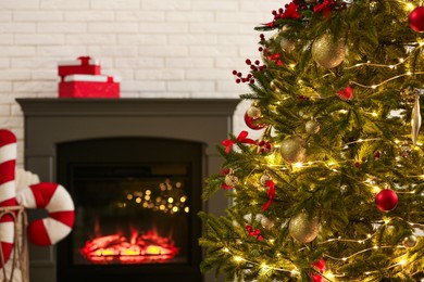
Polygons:
[[160,236],[154,229],[139,234],[134,228],[129,241],[122,234],[98,236],[87,241],[79,251],[95,264],[163,262],[178,253],[171,236]]

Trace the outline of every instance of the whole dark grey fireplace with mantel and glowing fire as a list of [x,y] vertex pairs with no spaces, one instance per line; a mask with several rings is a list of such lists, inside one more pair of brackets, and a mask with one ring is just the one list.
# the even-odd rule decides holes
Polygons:
[[[30,281],[213,281],[199,271],[200,195],[220,169],[215,145],[238,100],[18,99],[26,169],[63,184],[76,207],[71,234],[30,247]],[[30,219],[45,216],[34,210]]]

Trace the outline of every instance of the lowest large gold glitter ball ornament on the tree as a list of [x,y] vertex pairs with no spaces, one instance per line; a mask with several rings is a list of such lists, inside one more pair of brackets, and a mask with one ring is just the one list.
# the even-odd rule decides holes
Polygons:
[[300,213],[291,218],[288,232],[300,243],[312,242],[320,233],[320,220],[317,217],[310,218],[304,211]]

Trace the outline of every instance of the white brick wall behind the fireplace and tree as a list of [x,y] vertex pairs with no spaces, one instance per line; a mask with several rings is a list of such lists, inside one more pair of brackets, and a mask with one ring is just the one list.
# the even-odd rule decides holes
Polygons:
[[[287,0],[286,0],[287,2]],[[237,98],[233,69],[257,60],[259,33],[285,0],[0,0],[0,127],[18,138],[16,98],[57,97],[57,62],[90,55],[122,98]],[[237,127],[246,129],[244,103]]]

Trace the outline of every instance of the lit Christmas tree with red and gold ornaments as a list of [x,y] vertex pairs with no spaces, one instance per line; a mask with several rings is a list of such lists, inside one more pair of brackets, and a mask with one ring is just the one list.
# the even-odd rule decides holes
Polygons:
[[233,72],[250,89],[246,125],[262,131],[217,145],[203,197],[224,189],[233,205],[199,214],[202,271],[423,281],[423,3],[294,0],[270,21],[255,28],[261,60]]

